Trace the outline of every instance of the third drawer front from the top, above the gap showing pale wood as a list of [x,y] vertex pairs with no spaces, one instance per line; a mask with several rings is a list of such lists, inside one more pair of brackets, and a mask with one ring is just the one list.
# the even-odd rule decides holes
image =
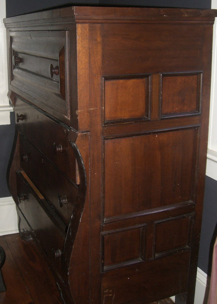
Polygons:
[[35,186],[68,225],[77,197],[77,186],[23,136],[20,136],[20,162]]

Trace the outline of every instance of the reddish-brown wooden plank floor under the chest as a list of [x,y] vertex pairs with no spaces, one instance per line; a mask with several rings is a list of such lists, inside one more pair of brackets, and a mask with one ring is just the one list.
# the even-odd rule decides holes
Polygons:
[[[1,304],[62,304],[55,280],[40,252],[31,241],[19,234],[0,237],[6,253],[2,268],[7,288],[0,292]],[[170,299],[153,304],[172,304]]]

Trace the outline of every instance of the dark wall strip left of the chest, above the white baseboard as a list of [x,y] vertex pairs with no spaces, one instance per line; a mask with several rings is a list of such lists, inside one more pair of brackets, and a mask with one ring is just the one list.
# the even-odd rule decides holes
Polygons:
[[10,113],[11,124],[0,126],[0,198],[11,196],[7,184],[7,169],[15,133],[14,112]]

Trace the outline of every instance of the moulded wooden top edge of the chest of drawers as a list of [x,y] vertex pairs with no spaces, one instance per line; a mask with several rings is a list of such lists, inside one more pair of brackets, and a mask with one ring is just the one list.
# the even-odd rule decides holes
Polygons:
[[72,6],[4,19],[6,27],[53,23],[196,22],[213,23],[217,10]]

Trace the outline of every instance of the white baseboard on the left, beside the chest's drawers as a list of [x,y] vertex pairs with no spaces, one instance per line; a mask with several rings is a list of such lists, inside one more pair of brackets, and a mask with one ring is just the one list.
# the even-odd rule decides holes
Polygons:
[[12,197],[0,198],[0,236],[18,233],[16,205]]

